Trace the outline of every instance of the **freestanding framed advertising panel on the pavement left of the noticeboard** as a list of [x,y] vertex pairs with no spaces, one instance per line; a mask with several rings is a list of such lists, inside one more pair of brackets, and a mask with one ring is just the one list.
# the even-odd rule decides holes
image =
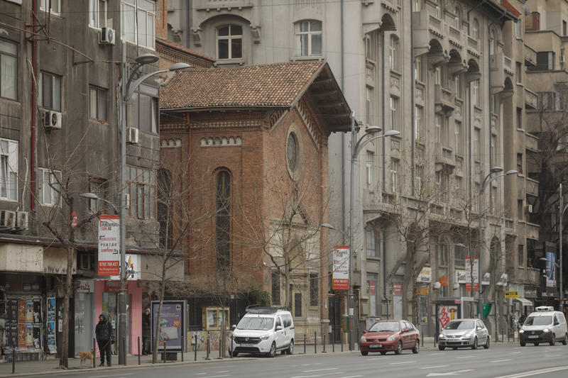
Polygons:
[[[158,328],[158,307],[160,302],[152,301],[152,335]],[[160,316],[160,343],[165,341],[168,350],[181,350],[182,332],[185,332],[184,301],[164,301]],[[163,349],[163,344],[160,345]]]

